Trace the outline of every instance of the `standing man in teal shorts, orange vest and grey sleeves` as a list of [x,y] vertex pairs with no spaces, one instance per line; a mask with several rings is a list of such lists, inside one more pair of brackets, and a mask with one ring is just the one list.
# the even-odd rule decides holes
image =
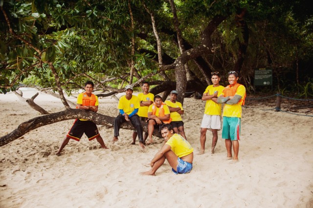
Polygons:
[[[241,126],[241,106],[245,104],[246,88],[237,83],[238,73],[236,71],[228,72],[228,82],[221,96],[218,97],[218,103],[225,103],[223,109],[223,130],[222,138],[225,139],[227,149],[227,159],[233,159],[238,162],[240,126]],[[232,157],[232,150],[234,157]]]

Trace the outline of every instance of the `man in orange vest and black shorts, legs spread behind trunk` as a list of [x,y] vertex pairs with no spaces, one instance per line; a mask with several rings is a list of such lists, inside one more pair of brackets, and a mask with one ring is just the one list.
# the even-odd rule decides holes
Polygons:
[[[77,102],[76,102],[76,108],[83,109],[87,111],[98,111],[98,97],[91,92],[93,91],[93,83],[91,81],[88,81],[85,83],[85,92],[80,93],[77,96]],[[67,133],[66,138],[63,140],[59,151],[56,153],[57,156],[61,155],[61,151],[63,148],[67,145],[69,139],[74,139],[76,141],[79,141],[83,134],[86,134],[89,141],[92,139],[97,139],[97,141],[100,143],[101,147],[104,149],[108,149],[106,145],[103,142],[103,139],[101,138],[98,128],[95,123],[92,121],[86,120],[86,119],[76,119],[74,121],[73,126]]]

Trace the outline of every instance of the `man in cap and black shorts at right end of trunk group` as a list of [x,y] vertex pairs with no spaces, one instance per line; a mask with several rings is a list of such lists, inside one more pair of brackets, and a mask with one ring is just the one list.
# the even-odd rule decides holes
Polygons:
[[[184,132],[184,122],[180,115],[184,114],[184,110],[180,102],[176,101],[178,92],[173,90],[170,93],[170,100],[165,100],[165,104],[168,106],[171,112],[171,125],[173,127],[173,131],[176,134],[180,134],[183,138],[186,139],[185,132]],[[186,139],[187,140],[187,139]]]

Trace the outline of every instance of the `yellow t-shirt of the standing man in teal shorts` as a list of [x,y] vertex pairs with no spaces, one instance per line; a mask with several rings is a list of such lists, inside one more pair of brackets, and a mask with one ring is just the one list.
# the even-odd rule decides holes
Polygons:
[[[244,98],[244,95],[246,94],[245,86],[240,85],[237,88],[237,91],[236,91],[235,95],[236,94],[238,94],[238,95],[240,95],[240,96],[242,96]],[[241,118],[241,112],[242,112],[241,105],[242,104],[243,104],[242,101],[239,101],[237,104],[234,104],[234,105],[225,104],[224,105],[224,109],[223,109],[223,116],[239,117],[239,118]]]

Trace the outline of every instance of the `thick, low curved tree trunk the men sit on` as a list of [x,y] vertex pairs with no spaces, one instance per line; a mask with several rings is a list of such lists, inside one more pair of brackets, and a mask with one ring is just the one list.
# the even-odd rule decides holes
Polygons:
[[[113,127],[114,118],[112,116],[105,116],[102,114],[94,113],[92,111],[82,110],[82,109],[67,109],[65,111],[61,111],[54,114],[49,114],[45,116],[39,116],[32,118],[28,121],[21,123],[17,129],[15,129],[10,134],[7,134],[3,137],[0,137],[0,146],[3,146],[15,139],[22,137],[24,134],[37,129],[41,126],[45,126],[48,124],[56,123],[59,121],[76,119],[76,118],[84,118],[93,121],[97,125],[105,125],[109,127]],[[141,121],[142,129],[144,132],[148,131],[147,123]],[[123,129],[134,129],[131,122],[125,122],[122,124],[121,128]],[[113,135],[113,130],[112,130]],[[155,130],[153,133],[154,136],[161,138],[160,133]]]

